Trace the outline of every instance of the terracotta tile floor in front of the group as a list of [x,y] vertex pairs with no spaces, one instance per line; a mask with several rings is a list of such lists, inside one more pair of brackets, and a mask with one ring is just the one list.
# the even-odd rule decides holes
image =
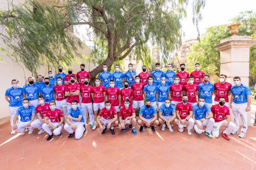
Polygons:
[[144,129],[135,136],[128,129],[115,129],[102,135],[99,129],[87,127],[80,139],[67,139],[67,132],[52,141],[47,134],[9,134],[9,124],[0,126],[0,170],[61,170],[61,169],[185,169],[185,170],[256,170],[256,127],[249,127],[246,138],[230,135],[208,139],[204,134],[177,127],[156,132]]

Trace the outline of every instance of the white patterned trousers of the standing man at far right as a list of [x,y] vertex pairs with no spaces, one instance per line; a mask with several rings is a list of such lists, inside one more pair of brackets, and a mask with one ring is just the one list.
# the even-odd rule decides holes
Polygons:
[[238,131],[239,129],[239,120],[238,118],[241,118],[242,121],[242,129],[241,131],[246,133],[247,131],[247,113],[245,111],[247,107],[247,103],[242,103],[242,104],[235,104],[234,102],[232,103],[232,112],[234,115],[234,123],[235,123],[235,131]]

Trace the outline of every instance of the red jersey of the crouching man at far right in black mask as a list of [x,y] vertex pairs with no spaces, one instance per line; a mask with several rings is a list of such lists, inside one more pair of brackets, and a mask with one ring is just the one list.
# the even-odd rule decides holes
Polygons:
[[213,113],[213,119],[215,122],[220,122],[226,119],[226,115],[230,115],[229,108],[225,105],[220,107],[220,105],[216,104],[211,107],[211,112]]

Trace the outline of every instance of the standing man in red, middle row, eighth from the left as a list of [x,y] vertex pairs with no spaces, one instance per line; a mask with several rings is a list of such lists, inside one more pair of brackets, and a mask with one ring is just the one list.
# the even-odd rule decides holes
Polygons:
[[118,87],[115,87],[114,80],[110,80],[110,87],[106,90],[105,100],[111,103],[111,106],[119,112],[119,107],[121,107],[121,95]]

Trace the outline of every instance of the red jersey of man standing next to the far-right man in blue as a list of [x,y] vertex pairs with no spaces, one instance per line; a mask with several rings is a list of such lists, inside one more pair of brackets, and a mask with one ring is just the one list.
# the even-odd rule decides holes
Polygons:
[[216,90],[216,95],[215,95],[214,101],[219,101],[219,97],[224,97],[225,102],[228,102],[228,91],[230,91],[231,87],[232,87],[232,85],[228,82],[214,83],[214,90]]

